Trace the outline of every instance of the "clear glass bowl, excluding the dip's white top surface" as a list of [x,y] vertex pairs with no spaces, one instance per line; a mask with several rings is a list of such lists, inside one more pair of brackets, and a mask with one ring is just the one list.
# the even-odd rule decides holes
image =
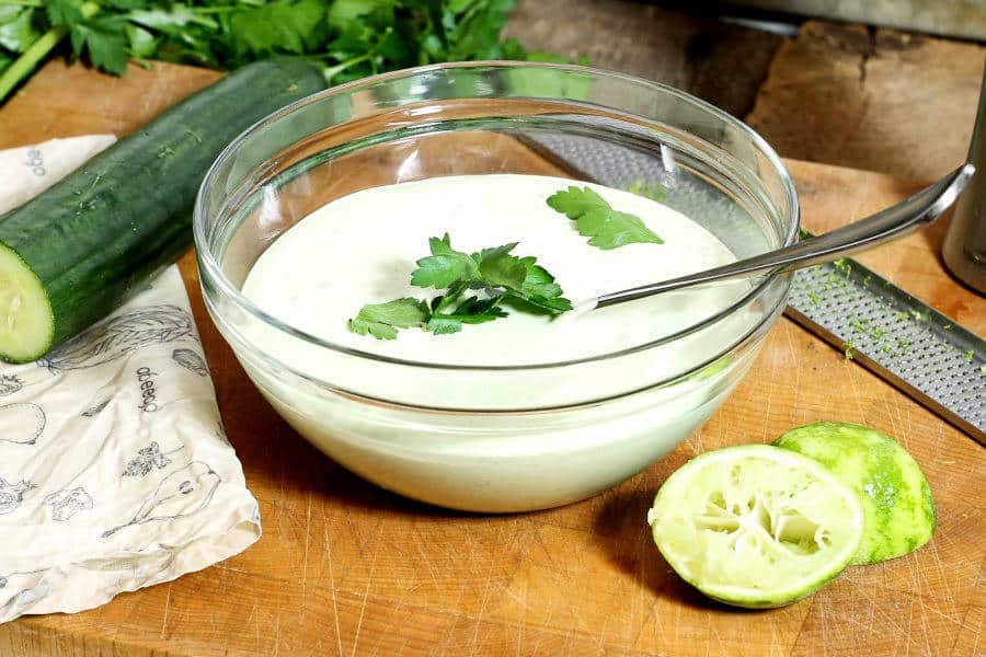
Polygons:
[[749,368],[789,278],[742,284],[700,322],[655,327],[616,353],[520,367],[331,344],[240,293],[278,235],[335,198],[491,173],[663,188],[662,203],[737,257],[793,243],[798,200],[777,154],[740,120],[669,87],[577,66],[469,62],[367,78],[271,115],[222,152],[195,207],[202,287],[274,408],[385,488],[523,511],[592,496],[680,443]]

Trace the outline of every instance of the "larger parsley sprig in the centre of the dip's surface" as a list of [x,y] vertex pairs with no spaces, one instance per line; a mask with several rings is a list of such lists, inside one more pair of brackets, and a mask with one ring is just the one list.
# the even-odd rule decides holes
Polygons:
[[463,324],[482,324],[507,316],[504,307],[557,315],[572,309],[554,277],[534,256],[519,257],[512,242],[478,253],[452,249],[448,233],[431,238],[431,255],[417,261],[411,285],[442,295],[431,303],[405,297],[368,303],[349,320],[349,331],[394,339],[400,328],[420,327],[435,335],[458,333]]

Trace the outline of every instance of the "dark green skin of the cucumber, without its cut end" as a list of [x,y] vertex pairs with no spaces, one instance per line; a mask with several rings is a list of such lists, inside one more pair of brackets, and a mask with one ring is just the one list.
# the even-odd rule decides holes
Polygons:
[[46,351],[104,318],[188,247],[198,186],[233,138],[325,87],[321,69],[303,59],[248,65],[0,217],[0,242],[27,263],[48,297],[55,330]]

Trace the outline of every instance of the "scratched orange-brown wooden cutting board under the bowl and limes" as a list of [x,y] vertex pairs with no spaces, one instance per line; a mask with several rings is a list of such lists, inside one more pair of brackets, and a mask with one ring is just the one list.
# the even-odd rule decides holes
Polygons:
[[[0,110],[0,148],[128,132],[216,73],[157,65],[126,78],[49,64]],[[916,189],[893,177],[789,161],[804,222],[834,228]],[[986,302],[955,284],[943,226],[860,257],[986,333]],[[444,511],[386,493],[322,457],[246,380],[182,270],[219,406],[264,537],[243,554],[73,615],[0,625],[0,655],[975,655],[982,654],[986,451],[788,320],[754,369],[679,449],[616,488],[516,516]],[[852,567],[814,597],[764,612],[711,603],[654,549],[645,514],[695,454],[767,442],[818,419],[896,436],[928,475],[939,528],[918,553]]]

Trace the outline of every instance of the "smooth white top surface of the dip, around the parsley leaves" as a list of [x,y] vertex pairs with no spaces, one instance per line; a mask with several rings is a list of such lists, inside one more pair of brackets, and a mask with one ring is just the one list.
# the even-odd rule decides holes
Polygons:
[[603,251],[546,200],[571,180],[502,174],[429,178],[365,189],[332,201],[280,235],[253,266],[243,293],[262,310],[328,342],[406,360],[530,365],[586,358],[649,343],[725,308],[740,286],[692,289],[601,309],[574,321],[523,312],[460,333],[404,330],[394,341],[348,331],[365,303],[439,292],[411,285],[428,238],[446,232],[471,253],[518,242],[577,303],[734,261],[714,235],[665,205],[589,185],[617,210],[640,217],[664,244]]

